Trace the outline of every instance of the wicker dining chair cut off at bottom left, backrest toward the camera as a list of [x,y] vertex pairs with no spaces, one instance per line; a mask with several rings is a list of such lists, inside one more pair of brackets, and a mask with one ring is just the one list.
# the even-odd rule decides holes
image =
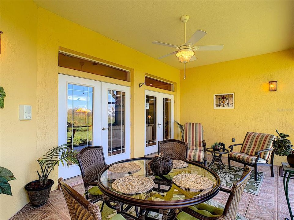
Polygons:
[[[67,207],[69,209],[69,215],[72,220],[102,220],[102,215],[98,205],[86,200],[82,195],[76,192],[76,190],[63,182],[63,178],[58,179],[58,184],[62,189]],[[109,218],[109,220],[126,219],[137,218],[125,213],[117,214]]]

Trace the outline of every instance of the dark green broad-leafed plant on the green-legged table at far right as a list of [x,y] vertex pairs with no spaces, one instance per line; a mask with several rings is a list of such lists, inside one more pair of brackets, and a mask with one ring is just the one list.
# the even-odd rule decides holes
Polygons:
[[279,136],[274,138],[273,141],[274,153],[279,156],[287,156],[291,154],[293,152],[293,145],[292,142],[287,139],[289,135],[279,133],[277,129],[276,132]]

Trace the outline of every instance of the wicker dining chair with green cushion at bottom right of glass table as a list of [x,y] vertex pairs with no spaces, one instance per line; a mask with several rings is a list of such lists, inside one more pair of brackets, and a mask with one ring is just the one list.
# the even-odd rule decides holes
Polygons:
[[225,208],[217,208],[205,203],[182,208],[182,212],[177,215],[177,220],[235,220],[239,201],[244,188],[250,177],[251,168],[246,166],[239,181],[233,184],[232,189],[221,188],[221,191],[230,193]]

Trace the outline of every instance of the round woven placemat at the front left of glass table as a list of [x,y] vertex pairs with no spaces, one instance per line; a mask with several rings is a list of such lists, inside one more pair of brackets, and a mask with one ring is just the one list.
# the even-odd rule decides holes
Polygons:
[[145,193],[154,187],[152,179],[143,176],[125,176],[116,179],[112,188],[125,194]]

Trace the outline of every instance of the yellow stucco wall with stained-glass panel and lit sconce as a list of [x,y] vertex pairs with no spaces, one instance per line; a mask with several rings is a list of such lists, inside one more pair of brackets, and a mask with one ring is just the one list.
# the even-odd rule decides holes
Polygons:
[[[293,49],[190,68],[185,80],[181,71],[181,123],[202,123],[207,146],[229,146],[232,138],[242,143],[247,131],[275,134],[275,129],[294,141],[293,73]],[[274,80],[277,91],[270,92]],[[213,95],[230,92],[235,93],[235,109],[214,109]],[[275,156],[274,164],[286,160]]]

